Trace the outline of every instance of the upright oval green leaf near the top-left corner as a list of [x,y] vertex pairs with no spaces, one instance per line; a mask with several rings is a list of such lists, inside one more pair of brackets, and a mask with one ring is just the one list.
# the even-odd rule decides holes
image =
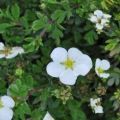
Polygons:
[[11,7],[11,14],[15,20],[18,20],[18,18],[20,17],[20,8],[18,4],[15,4]]

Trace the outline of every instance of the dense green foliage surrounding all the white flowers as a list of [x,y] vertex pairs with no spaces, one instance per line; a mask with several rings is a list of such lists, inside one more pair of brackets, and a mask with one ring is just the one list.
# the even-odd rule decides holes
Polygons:
[[[46,111],[56,120],[119,120],[119,6],[119,0],[0,0],[0,41],[26,50],[15,59],[0,59],[0,94],[15,99],[14,120],[42,120]],[[101,34],[88,20],[96,9],[112,15],[110,28]],[[87,78],[78,78],[68,91],[72,99],[64,101],[66,94],[61,98],[60,91],[68,87],[46,73],[57,46],[77,47],[93,61],[109,59],[110,78],[101,80],[91,71]],[[59,94],[53,95],[55,91]],[[105,114],[92,113],[93,96],[102,97]]]

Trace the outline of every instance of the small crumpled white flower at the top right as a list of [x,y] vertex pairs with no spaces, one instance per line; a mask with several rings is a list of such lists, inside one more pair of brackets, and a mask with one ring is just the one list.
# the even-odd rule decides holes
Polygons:
[[102,31],[104,27],[107,27],[110,22],[111,15],[104,14],[101,10],[94,11],[94,14],[90,15],[90,21],[96,24],[98,32]]

